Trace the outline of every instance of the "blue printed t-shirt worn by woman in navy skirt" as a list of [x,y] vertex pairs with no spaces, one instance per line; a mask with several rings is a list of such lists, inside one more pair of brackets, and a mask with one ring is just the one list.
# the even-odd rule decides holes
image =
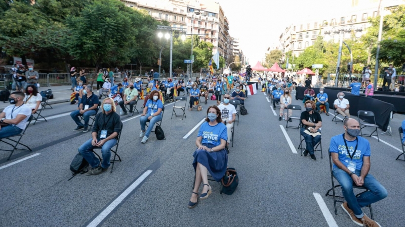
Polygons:
[[198,136],[203,137],[201,144],[209,143],[214,146],[220,145],[221,139],[228,140],[226,126],[222,123],[218,123],[216,126],[210,126],[208,122],[203,123],[198,130]]

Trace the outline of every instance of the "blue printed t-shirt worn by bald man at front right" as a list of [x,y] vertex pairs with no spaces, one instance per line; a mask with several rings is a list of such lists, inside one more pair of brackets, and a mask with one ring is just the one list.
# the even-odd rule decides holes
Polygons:
[[[349,148],[349,153],[346,151],[346,145],[343,140],[344,134],[340,134],[337,136],[332,137],[331,139],[331,144],[329,146],[329,152],[333,153],[338,153],[339,154],[339,160],[347,167],[348,162],[351,160],[352,162],[356,163],[356,169],[360,170],[361,167],[363,166],[363,156],[370,156],[371,155],[371,150],[370,150],[370,143],[367,139],[357,136],[357,150],[356,153],[353,156],[353,159],[350,159],[350,155],[353,154],[354,148],[356,147],[356,140],[353,141],[347,141],[347,147]],[[337,167],[335,164],[333,164],[333,167]]]

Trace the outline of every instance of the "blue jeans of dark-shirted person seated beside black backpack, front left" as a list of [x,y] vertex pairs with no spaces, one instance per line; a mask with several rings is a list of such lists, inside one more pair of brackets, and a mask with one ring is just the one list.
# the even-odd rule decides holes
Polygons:
[[[92,140],[90,139],[86,141],[82,146],[79,147],[79,153],[86,159],[87,162],[93,167],[96,168],[100,164],[100,160],[94,155],[93,148],[96,146],[92,145]],[[100,139],[97,139],[100,141]],[[115,146],[117,143],[116,139],[110,139],[103,144],[101,147],[101,154],[103,156],[103,162],[101,163],[101,167],[108,168],[110,166],[110,158],[111,158],[111,147]]]

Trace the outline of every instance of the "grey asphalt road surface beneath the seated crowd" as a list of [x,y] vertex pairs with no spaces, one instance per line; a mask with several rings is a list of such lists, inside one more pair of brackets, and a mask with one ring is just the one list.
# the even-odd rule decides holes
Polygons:
[[[188,209],[197,125],[213,104],[209,100],[203,111],[186,110],[184,120],[171,120],[173,102],[165,103],[167,140],[156,140],[152,133],[146,144],[139,138],[140,115],[124,116],[118,147],[122,162],[115,163],[112,173],[77,175],[70,181],[70,162],[91,134],[73,131],[69,113],[74,105],[44,110],[48,122],[31,124],[22,139],[32,152],[16,151],[10,161],[9,152],[0,152],[0,226],[356,226],[341,203],[335,215],[332,197],[325,196],[331,188],[330,138],[344,132],[343,124],[321,115],[323,159],[315,153],[318,160],[312,161],[297,149],[299,131],[285,133],[286,121],[278,121],[279,109],[275,116],[262,92],[249,96],[249,115],[240,116],[235,126],[228,155],[228,166],[239,174],[235,193],[220,194],[220,183],[210,182],[214,193]],[[380,136],[380,142],[367,137],[370,173],[389,194],[373,204],[374,218],[382,226],[403,226],[405,162],[395,158],[401,150],[397,128],[404,119],[394,115],[393,135]],[[367,207],[363,211],[370,213]]]

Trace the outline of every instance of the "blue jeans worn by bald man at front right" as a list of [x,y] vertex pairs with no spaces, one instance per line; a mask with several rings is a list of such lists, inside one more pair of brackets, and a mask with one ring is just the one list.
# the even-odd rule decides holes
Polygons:
[[[360,176],[359,170],[356,170],[356,175]],[[365,177],[363,184],[363,187],[370,191],[362,193],[358,197],[356,197],[353,192],[353,180],[346,172],[338,167],[335,167],[333,169],[333,176],[342,186],[343,197],[357,218],[363,217],[361,207],[365,207],[369,204],[380,201],[388,195],[388,192],[384,186],[382,186],[380,182],[378,182],[371,174],[368,174]]]

